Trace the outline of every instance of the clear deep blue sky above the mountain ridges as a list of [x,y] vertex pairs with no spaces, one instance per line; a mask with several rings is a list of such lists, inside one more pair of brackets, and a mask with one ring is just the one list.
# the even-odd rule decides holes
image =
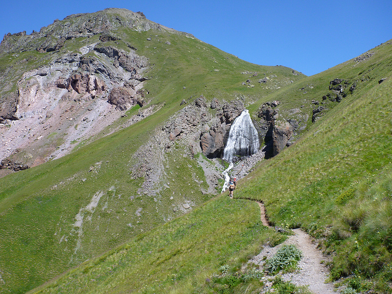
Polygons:
[[147,19],[248,62],[320,73],[392,39],[392,0],[16,0],[0,6],[4,34],[108,7]]

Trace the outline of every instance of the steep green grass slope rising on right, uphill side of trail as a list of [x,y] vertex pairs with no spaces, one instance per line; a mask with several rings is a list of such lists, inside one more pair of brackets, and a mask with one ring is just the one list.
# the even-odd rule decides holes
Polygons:
[[[260,164],[236,194],[263,200],[274,224],[302,227],[325,237],[325,249],[334,255],[333,278],[354,273],[353,279],[370,278],[377,284],[371,287],[388,293],[392,278],[390,44],[373,49],[375,54],[366,61],[351,60],[296,84],[326,88],[336,77],[358,81],[352,95],[293,147]],[[387,79],[379,84],[381,78]],[[318,88],[311,90],[308,101],[320,99],[323,90]],[[290,99],[297,93],[288,89],[272,96]],[[365,286],[357,290],[364,290],[361,287]]]

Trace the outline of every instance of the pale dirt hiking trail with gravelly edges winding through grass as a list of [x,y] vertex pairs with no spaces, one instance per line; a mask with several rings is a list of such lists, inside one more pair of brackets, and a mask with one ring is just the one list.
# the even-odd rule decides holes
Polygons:
[[[260,206],[260,218],[264,225],[270,226],[264,204],[258,202]],[[329,270],[322,263],[326,259],[317,245],[312,242],[308,234],[300,229],[293,230],[294,235],[290,236],[284,243],[275,246],[265,246],[263,250],[250,262],[262,266],[265,263],[264,256],[271,258],[276,251],[283,245],[295,245],[299,248],[304,257],[298,263],[298,270],[282,275],[284,281],[290,281],[296,286],[309,286],[309,290],[314,294],[336,294],[332,283],[324,283],[328,277]],[[265,258],[264,258],[265,259]],[[270,290],[272,282],[265,278],[265,289],[262,293]]]

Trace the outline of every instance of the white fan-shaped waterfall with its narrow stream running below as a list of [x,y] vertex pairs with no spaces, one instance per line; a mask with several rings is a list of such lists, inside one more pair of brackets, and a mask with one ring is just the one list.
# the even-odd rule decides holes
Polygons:
[[224,175],[224,184],[221,193],[229,187],[229,171],[234,166],[234,158],[250,156],[256,153],[259,147],[259,135],[250,119],[249,111],[245,109],[230,127],[229,138],[223,150],[223,159],[230,164],[222,172]]

